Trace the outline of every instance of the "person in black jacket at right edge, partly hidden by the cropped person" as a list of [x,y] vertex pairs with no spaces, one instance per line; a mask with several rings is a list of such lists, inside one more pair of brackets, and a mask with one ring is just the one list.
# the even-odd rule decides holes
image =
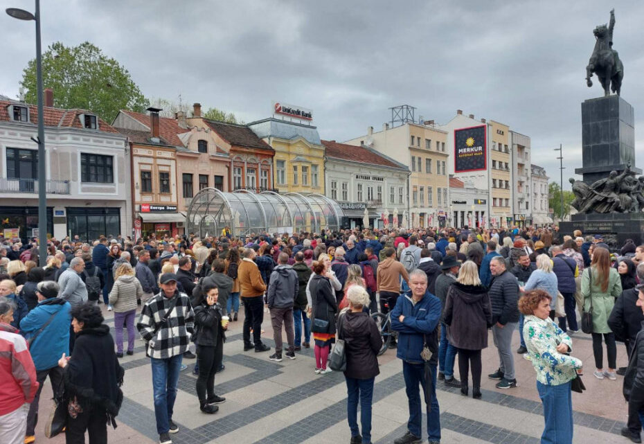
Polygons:
[[[637,277],[640,282],[644,282],[644,264],[637,266]],[[615,301],[613,311],[608,318],[608,326],[615,333],[616,339],[623,341],[626,345],[629,358],[633,353],[637,334],[640,332],[644,321],[644,314],[637,303],[639,293],[640,290],[637,290],[637,288],[624,290]],[[617,373],[623,375],[626,373],[626,369],[619,368]],[[642,424],[638,411],[632,409],[632,407],[634,407],[634,404],[632,405],[629,402],[628,423],[627,427],[622,429],[622,434],[630,438],[634,443],[641,443],[640,430],[642,429]]]

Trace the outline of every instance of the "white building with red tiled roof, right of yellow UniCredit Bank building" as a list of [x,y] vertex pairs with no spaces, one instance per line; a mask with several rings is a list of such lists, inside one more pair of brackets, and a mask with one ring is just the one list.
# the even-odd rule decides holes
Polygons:
[[[369,227],[393,225],[393,215],[406,208],[409,168],[364,145],[322,141],[325,148],[326,196],[338,202],[349,227],[364,227],[365,210]],[[382,217],[385,217],[385,220]]]

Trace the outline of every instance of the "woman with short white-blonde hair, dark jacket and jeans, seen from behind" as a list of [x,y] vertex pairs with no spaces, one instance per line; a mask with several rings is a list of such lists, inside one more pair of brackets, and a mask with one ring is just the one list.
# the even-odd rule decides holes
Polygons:
[[[371,403],[373,383],[379,375],[377,353],[382,347],[378,327],[362,309],[369,305],[369,294],[360,285],[352,285],[347,292],[348,311],[338,318],[338,337],[346,341],[347,418],[352,443],[371,443]],[[360,425],[358,428],[358,398]]]

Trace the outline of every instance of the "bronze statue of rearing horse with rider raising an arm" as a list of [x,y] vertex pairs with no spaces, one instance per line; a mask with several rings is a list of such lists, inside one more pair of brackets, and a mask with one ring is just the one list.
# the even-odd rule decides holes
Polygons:
[[624,78],[624,66],[617,51],[613,49],[614,26],[615,10],[611,10],[609,26],[600,25],[593,31],[596,38],[595,48],[586,66],[586,84],[589,87],[593,86],[591,77],[595,73],[604,88],[605,96],[609,96],[611,90],[619,96]]

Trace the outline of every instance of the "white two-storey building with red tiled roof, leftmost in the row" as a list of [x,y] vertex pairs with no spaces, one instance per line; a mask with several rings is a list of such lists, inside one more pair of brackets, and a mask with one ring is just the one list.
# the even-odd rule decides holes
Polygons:
[[[132,232],[125,136],[82,109],[51,107],[45,91],[47,234],[82,240]],[[0,234],[35,237],[37,107],[0,100]]]

